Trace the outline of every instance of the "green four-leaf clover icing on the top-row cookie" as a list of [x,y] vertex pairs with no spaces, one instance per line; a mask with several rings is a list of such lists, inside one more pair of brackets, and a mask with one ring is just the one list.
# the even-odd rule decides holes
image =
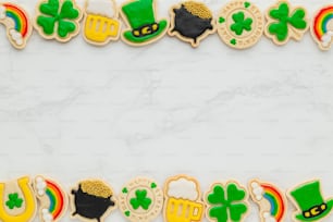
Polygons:
[[57,34],[61,38],[67,37],[70,33],[78,28],[73,21],[79,17],[79,11],[74,8],[71,0],[65,0],[61,7],[60,0],[48,0],[47,3],[39,5],[39,11],[42,15],[37,17],[37,24],[42,27],[44,33],[48,36],[55,33],[57,23]]

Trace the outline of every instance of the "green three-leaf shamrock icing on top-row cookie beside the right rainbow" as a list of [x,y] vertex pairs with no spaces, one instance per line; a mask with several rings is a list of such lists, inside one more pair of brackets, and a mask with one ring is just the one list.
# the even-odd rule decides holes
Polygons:
[[297,8],[292,15],[289,15],[289,7],[286,2],[282,2],[278,9],[269,11],[269,15],[276,20],[276,23],[271,23],[269,25],[269,33],[275,35],[279,41],[284,41],[287,38],[288,24],[296,29],[305,29],[307,27],[305,10]]

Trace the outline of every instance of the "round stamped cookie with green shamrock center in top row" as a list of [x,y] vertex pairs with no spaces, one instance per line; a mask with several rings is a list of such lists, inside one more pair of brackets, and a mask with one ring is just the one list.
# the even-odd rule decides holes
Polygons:
[[249,1],[230,1],[221,9],[217,20],[220,38],[232,48],[249,48],[262,36],[262,13]]

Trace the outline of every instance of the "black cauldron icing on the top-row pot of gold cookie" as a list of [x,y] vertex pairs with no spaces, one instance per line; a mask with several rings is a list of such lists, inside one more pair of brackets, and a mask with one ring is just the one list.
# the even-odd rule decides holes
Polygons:
[[197,38],[201,36],[207,29],[212,29],[212,18],[201,18],[193,15],[182,4],[181,9],[173,10],[174,16],[174,28],[172,32],[177,32],[182,36],[192,38],[197,41]]

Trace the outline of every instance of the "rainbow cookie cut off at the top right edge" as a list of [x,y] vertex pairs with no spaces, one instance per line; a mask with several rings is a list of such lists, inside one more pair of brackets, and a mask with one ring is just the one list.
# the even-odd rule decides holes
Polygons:
[[333,42],[333,4],[320,9],[312,21],[311,34],[321,50],[329,50]]

